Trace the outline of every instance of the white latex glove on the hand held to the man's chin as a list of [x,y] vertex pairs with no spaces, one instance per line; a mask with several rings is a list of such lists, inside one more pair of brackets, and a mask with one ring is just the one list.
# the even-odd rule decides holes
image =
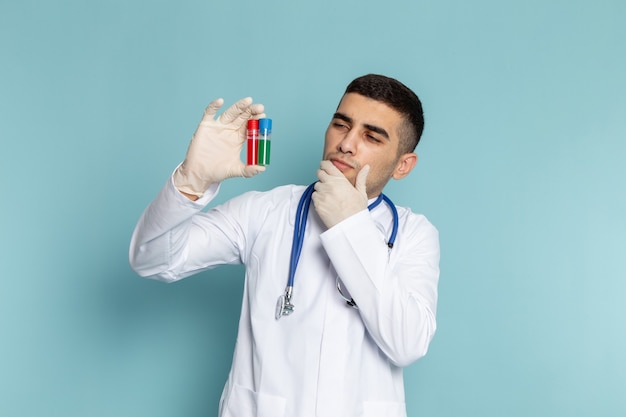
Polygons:
[[329,229],[367,208],[366,180],[370,166],[365,165],[354,186],[330,161],[322,161],[317,171],[319,182],[311,196],[315,210]]

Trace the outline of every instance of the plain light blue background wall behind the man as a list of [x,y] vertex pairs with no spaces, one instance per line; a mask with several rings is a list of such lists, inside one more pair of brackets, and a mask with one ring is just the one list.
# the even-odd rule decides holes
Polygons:
[[314,179],[345,85],[423,100],[387,193],[442,242],[410,416],[626,415],[626,2],[0,2],[0,415],[212,416],[242,269],[165,285],[130,234],[204,106],[251,95]]

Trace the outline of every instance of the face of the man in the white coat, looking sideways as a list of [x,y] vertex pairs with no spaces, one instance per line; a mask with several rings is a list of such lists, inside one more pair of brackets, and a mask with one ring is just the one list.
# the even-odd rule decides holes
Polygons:
[[417,162],[417,155],[398,155],[398,132],[404,118],[388,105],[356,93],[343,96],[326,129],[324,159],[335,165],[352,185],[365,165],[367,195],[382,192],[389,179],[404,178]]

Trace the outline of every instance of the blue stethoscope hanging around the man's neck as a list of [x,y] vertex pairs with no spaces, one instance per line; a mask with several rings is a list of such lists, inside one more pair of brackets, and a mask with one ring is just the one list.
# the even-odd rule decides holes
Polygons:
[[[293,230],[293,242],[291,244],[291,260],[289,264],[289,279],[287,281],[287,287],[285,288],[285,293],[281,294],[278,297],[278,302],[276,303],[276,320],[281,318],[282,316],[288,316],[293,313],[294,305],[291,302],[291,297],[293,295],[293,285],[294,285],[294,277],[296,276],[296,268],[298,267],[298,261],[300,260],[300,253],[302,252],[302,244],[304,243],[304,231],[306,230],[306,221],[309,215],[309,207],[311,206],[311,196],[313,195],[315,183],[309,185],[302,197],[300,197],[300,202],[298,202],[298,209],[296,211],[296,221]],[[387,241],[387,246],[389,246],[389,250],[393,248],[393,244],[396,241],[396,235],[398,234],[398,210],[396,210],[396,206],[393,202],[384,195],[380,193],[378,198],[372,202],[369,206],[367,206],[368,210],[373,210],[376,206],[378,206],[381,202],[385,202],[391,213],[393,215],[393,227],[391,229],[391,235],[389,236],[389,240]],[[341,289],[341,282],[339,281],[339,276],[337,276],[337,291],[341,297],[346,301],[346,303],[350,307],[358,308],[356,302],[353,298],[346,297]]]

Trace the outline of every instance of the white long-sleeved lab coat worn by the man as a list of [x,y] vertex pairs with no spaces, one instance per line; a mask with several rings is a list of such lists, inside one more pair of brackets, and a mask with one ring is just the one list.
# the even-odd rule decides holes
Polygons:
[[[142,276],[176,281],[219,264],[246,265],[239,333],[221,417],[406,416],[402,367],[435,332],[439,241],[421,215],[385,204],[325,230],[313,205],[298,264],[293,314],[276,320],[289,274],[302,186],[250,192],[207,213],[168,182],[133,234]],[[359,309],[346,305],[335,280]]]

